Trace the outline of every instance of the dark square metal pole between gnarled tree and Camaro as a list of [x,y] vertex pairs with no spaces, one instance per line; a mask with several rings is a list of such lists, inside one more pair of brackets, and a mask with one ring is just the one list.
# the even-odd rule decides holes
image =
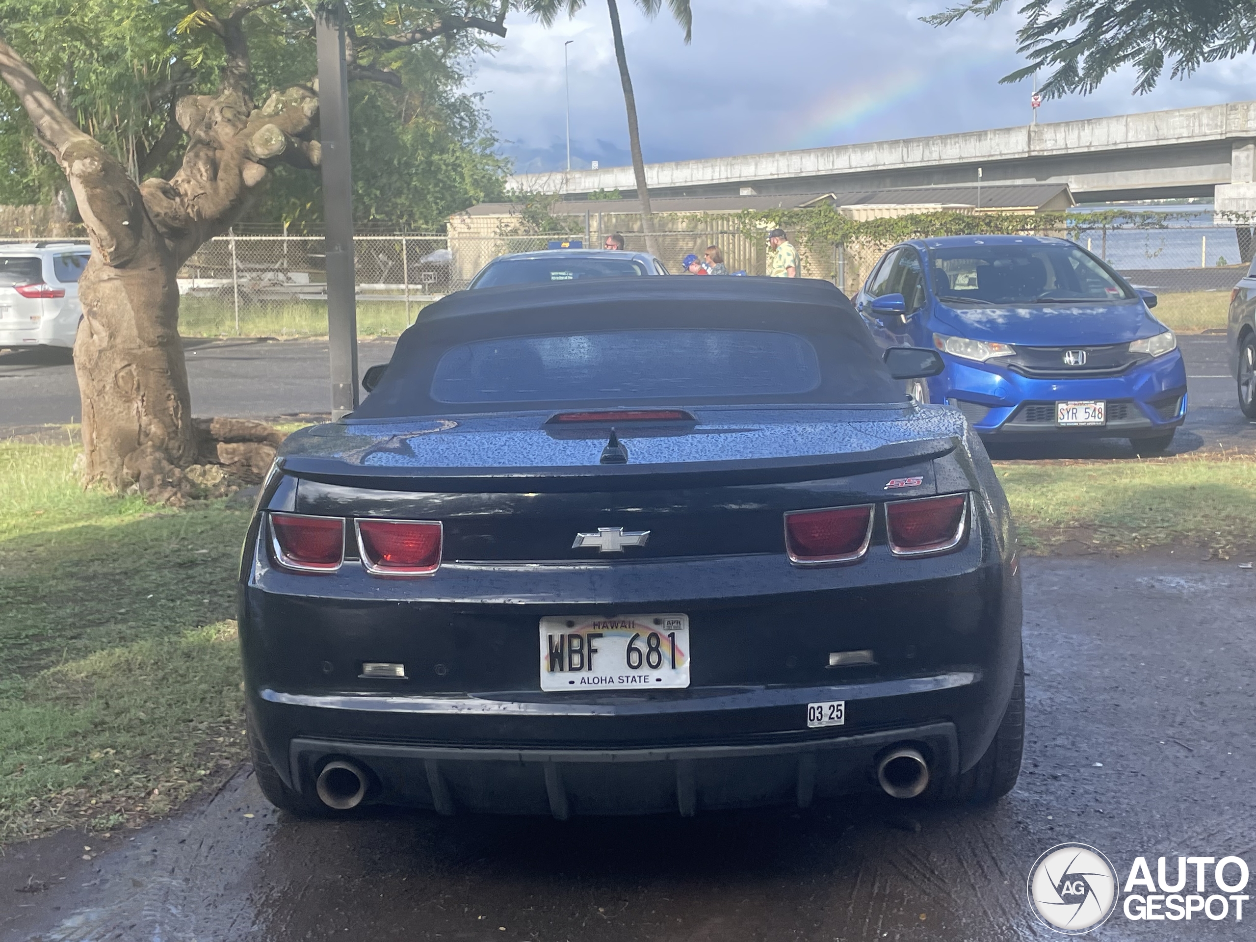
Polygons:
[[323,216],[327,226],[327,339],[332,357],[332,420],[358,407],[358,310],[353,270],[353,167],[349,162],[349,72],[343,0],[315,10]]

